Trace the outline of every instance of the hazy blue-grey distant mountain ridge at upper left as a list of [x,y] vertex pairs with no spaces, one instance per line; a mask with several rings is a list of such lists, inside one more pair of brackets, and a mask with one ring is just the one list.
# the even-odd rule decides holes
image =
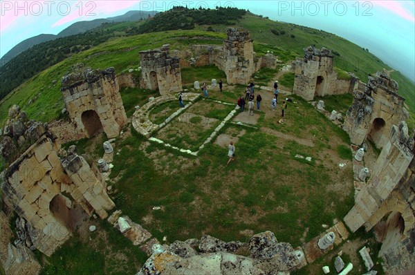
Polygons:
[[126,12],[124,15],[119,15],[116,17],[109,17],[107,19],[94,19],[91,21],[79,21],[73,23],[68,28],[62,30],[57,35],[37,35],[35,37],[30,37],[24,41],[21,41],[11,50],[9,50],[6,55],[1,57],[0,59],[0,67],[7,64],[10,59],[13,57],[17,57],[20,53],[24,52],[28,48],[31,48],[37,44],[41,44],[46,41],[50,41],[57,38],[68,37],[70,35],[79,35],[84,33],[88,30],[92,30],[93,28],[97,28],[102,25],[102,23],[111,23],[111,22],[130,22],[130,21],[139,21],[141,19],[147,19],[150,16],[155,15],[157,12],[143,12],[141,10],[130,10]]

